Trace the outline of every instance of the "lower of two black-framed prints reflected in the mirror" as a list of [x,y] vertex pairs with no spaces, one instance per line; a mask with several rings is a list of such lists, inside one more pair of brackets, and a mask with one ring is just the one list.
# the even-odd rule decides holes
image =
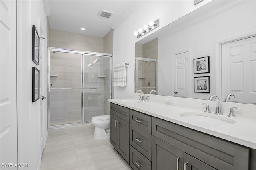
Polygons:
[[210,76],[194,77],[195,93],[210,93]]

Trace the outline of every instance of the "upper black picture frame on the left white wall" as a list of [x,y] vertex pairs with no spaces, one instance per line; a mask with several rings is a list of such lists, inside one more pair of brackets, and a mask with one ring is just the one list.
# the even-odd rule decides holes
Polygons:
[[32,26],[32,61],[36,63],[36,65],[39,65],[39,35],[36,30],[36,26]]

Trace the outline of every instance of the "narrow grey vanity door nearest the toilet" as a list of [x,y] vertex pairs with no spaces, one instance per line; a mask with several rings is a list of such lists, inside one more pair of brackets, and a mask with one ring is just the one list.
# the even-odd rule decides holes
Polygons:
[[110,113],[110,133],[109,133],[109,141],[113,145],[113,147],[118,149],[118,129],[116,127],[116,121],[118,117],[112,113]]

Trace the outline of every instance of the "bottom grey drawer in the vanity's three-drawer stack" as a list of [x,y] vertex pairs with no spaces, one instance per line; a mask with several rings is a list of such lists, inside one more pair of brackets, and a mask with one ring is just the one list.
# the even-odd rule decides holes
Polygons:
[[133,170],[151,170],[151,162],[130,145],[130,166]]

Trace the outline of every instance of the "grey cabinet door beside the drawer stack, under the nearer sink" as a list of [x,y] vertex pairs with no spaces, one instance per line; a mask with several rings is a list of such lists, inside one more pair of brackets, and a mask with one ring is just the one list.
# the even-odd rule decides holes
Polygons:
[[183,151],[152,136],[152,170],[183,170]]

